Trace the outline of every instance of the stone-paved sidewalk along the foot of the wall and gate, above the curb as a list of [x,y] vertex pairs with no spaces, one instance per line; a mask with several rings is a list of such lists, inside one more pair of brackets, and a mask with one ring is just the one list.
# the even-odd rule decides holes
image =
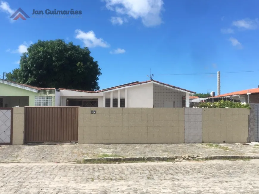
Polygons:
[[[57,144],[1,146],[0,163],[74,162],[104,156],[244,155],[259,156],[259,146],[243,144]],[[106,156],[107,156],[106,155]]]

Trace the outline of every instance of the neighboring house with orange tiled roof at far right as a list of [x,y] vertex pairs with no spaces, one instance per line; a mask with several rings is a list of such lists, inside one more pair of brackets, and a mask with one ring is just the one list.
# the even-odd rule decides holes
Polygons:
[[215,96],[215,98],[221,97],[240,100],[241,103],[259,103],[259,88],[246,89],[238,92],[231,92]]

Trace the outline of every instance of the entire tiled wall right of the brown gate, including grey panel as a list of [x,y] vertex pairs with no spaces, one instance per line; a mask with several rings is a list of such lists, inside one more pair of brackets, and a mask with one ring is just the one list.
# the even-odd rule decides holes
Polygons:
[[[194,109],[79,108],[78,143],[247,142],[248,109],[197,108],[196,112],[202,111],[199,113],[202,114],[199,120],[202,126],[185,126],[185,118],[190,117],[190,120]],[[91,114],[91,110],[96,114]],[[188,120],[186,122],[189,123]],[[186,130],[188,134],[185,134]],[[192,138],[192,134],[195,137]]]

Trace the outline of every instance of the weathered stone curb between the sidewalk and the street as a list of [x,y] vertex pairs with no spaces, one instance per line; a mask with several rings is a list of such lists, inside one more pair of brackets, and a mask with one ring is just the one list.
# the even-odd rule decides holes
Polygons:
[[216,155],[216,156],[199,156],[199,155],[183,155],[183,156],[147,156],[147,157],[96,157],[85,158],[85,162],[123,162],[123,161],[167,161],[184,162],[187,160],[224,160],[224,159],[259,159],[259,156],[244,155]]

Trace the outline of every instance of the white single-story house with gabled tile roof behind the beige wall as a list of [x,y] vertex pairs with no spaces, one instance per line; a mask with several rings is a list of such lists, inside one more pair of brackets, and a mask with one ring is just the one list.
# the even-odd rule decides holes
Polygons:
[[[132,82],[95,92],[72,89],[59,91],[58,106],[125,108],[189,107],[189,96],[196,93],[154,80]],[[185,105],[182,105],[183,97],[188,99]]]

